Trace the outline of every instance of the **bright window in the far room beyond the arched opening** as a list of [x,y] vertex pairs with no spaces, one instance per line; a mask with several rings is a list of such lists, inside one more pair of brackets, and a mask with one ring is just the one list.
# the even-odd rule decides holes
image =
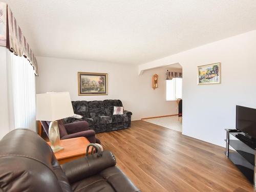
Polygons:
[[182,98],[182,78],[166,80],[166,101]]

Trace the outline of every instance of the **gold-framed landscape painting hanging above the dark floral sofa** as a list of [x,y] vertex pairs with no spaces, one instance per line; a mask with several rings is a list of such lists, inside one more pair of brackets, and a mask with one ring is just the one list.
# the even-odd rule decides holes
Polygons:
[[108,95],[108,74],[78,72],[78,95]]

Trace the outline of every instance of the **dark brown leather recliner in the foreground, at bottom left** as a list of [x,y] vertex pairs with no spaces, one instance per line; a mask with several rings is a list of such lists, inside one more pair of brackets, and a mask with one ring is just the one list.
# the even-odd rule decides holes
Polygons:
[[0,191],[139,191],[115,165],[114,155],[103,151],[60,166],[44,139],[17,129],[0,141]]

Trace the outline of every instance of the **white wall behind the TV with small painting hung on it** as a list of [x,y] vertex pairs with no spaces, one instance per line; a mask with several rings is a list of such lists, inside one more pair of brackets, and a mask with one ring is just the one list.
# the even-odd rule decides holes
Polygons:
[[[256,31],[139,66],[139,72],[179,62],[183,67],[183,134],[224,146],[236,104],[256,108]],[[221,62],[221,84],[197,85],[197,66]]]

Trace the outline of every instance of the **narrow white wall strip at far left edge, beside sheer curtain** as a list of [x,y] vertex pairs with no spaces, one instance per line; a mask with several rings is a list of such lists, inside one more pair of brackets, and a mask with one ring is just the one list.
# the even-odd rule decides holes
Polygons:
[[0,139],[9,132],[6,48],[0,47]]

